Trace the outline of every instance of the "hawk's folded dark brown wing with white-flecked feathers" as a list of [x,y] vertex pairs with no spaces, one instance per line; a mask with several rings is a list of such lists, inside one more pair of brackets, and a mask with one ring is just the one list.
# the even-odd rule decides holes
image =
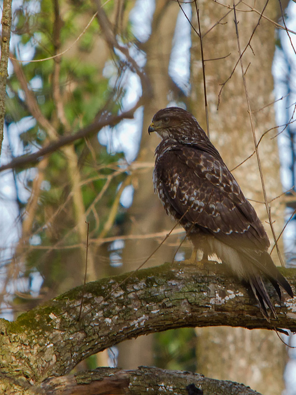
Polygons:
[[182,223],[194,223],[216,237],[241,240],[245,234],[247,243],[267,249],[269,240],[254,208],[217,154],[211,147],[182,145],[158,158],[155,188],[164,195],[165,208],[170,212],[170,204],[176,219],[184,216]]

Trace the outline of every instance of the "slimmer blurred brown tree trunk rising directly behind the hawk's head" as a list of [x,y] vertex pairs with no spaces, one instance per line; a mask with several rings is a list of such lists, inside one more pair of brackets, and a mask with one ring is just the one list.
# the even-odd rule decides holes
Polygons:
[[[137,162],[154,162],[154,149],[157,138],[148,136],[148,125],[154,113],[166,107],[171,79],[168,74],[172,39],[179,7],[168,0],[158,0],[152,20],[149,40],[143,44],[147,55],[145,71],[151,83],[153,99],[144,106],[143,134]],[[132,183],[135,187],[133,204],[129,209],[130,223],[125,228],[126,234],[153,234],[170,229],[170,221],[157,197],[153,196],[152,166],[133,173]],[[159,245],[161,238],[126,241],[123,253],[124,270],[136,269]],[[149,260],[147,266],[157,261],[173,259],[173,250],[164,245]],[[135,264],[135,257],[137,261]],[[130,340],[120,344],[118,366],[136,368],[139,365],[153,364],[153,335]]]

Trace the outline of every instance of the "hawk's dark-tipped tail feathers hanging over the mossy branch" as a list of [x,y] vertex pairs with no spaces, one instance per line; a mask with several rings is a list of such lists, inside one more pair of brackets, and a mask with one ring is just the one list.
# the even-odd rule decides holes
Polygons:
[[268,252],[255,252],[253,250],[252,254],[249,254],[245,250],[242,251],[241,257],[244,261],[244,272],[246,273],[246,277],[250,282],[252,291],[259,303],[262,315],[267,319],[267,321],[269,321],[269,309],[273,316],[277,318],[274,306],[271,303],[261,275],[264,275],[269,279],[279,295],[280,300],[282,296],[280,286],[291,296],[291,298],[293,298],[294,294],[289,282],[277,270]]

